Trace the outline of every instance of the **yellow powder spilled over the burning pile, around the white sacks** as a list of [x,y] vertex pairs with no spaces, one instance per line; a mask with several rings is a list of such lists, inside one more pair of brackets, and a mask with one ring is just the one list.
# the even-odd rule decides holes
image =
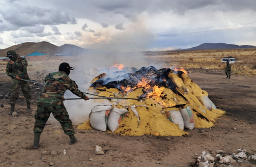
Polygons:
[[[160,136],[182,136],[187,133],[179,129],[175,124],[169,121],[165,112],[170,110],[179,110],[174,108],[175,105],[188,105],[192,109],[195,120],[195,128],[212,127],[216,119],[218,119],[224,111],[207,110],[197,97],[208,96],[208,93],[202,90],[197,84],[192,82],[186,74],[182,74],[181,78],[173,73],[169,73],[169,78],[178,86],[179,91],[184,97],[174,93],[169,88],[161,87],[162,93],[159,98],[151,98],[145,101],[141,100],[113,100],[112,106],[119,109],[128,109],[128,117],[124,117],[114,133],[126,136],[141,136],[141,135],[160,135]],[[90,91],[95,91],[89,88]],[[127,98],[137,98],[143,95],[143,87],[137,88],[126,94]],[[104,86],[99,86],[96,92],[100,96],[115,97],[119,93],[116,88],[107,89]],[[122,96],[124,97],[124,96]],[[104,103],[104,100],[97,100]],[[118,105],[117,105],[118,104]],[[143,105],[143,106],[141,106]],[[135,107],[139,118],[131,110]],[[204,112],[204,111],[206,112]],[[138,123],[139,122],[139,123]],[[92,129],[90,121],[79,125],[78,129]]]

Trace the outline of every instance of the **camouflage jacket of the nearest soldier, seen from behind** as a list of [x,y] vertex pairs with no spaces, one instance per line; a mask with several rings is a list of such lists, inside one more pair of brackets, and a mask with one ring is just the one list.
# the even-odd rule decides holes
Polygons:
[[65,72],[58,71],[50,73],[45,77],[45,85],[38,102],[61,105],[63,104],[66,89],[81,98],[86,97],[86,95],[78,89],[77,84],[71,80]]

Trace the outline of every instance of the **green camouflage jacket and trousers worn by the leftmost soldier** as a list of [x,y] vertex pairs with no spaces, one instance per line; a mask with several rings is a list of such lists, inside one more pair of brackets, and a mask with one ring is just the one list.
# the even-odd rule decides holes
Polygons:
[[19,76],[21,79],[30,80],[29,75],[27,73],[28,61],[26,58],[18,57],[18,59],[11,64],[8,61],[6,65],[6,74],[12,78],[11,82],[11,97],[10,102],[14,104],[15,101],[19,98],[19,89],[21,88],[23,95],[26,97],[27,101],[30,101],[31,88],[29,86],[29,82],[16,80],[15,77]]

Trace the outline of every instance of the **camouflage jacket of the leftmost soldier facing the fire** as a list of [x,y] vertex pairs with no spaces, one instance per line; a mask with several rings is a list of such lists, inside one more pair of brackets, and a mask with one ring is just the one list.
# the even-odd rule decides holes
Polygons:
[[[18,57],[18,59],[11,64],[11,60],[8,61],[6,65],[6,74],[12,79],[16,80],[15,77],[19,76],[23,80],[29,80],[29,75],[27,73],[28,61],[26,58]],[[18,80],[16,80],[18,82]]]

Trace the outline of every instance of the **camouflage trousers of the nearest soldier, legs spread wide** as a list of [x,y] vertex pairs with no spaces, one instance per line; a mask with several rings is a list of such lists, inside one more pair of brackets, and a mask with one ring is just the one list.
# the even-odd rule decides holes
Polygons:
[[42,133],[50,114],[53,114],[57,119],[66,135],[73,135],[75,133],[72,121],[69,119],[69,115],[66,111],[64,104],[51,105],[48,103],[37,103],[37,110],[34,113],[34,133]]

